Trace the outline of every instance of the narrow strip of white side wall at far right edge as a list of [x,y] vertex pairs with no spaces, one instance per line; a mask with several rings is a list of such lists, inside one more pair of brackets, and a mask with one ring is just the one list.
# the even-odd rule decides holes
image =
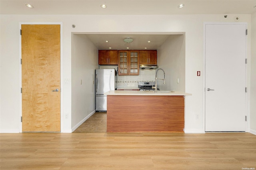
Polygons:
[[250,132],[256,135],[256,12],[252,14],[251,36]]

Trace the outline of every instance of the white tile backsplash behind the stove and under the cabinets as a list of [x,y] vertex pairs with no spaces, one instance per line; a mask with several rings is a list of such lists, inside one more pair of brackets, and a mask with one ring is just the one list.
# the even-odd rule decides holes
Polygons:
[[[117,66],[100,65],[100,69],[104,68],[115,68]],[[140,69],[140,75],[138,76],[116,76],[117,77],[117,88],[138,88],[138,82],[154,82],[156,77],[156,70]]]

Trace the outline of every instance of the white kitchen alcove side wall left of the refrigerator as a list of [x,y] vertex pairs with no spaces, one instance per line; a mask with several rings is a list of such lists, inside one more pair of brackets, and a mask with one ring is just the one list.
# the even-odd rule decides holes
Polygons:
[[[71,127],[75,130],[74,127],[95,112],[94,80],[95,69],[98,68],[98,49],[86,35],[72,34],[71,50]],[[66,115],[64,117],[66,119]]]

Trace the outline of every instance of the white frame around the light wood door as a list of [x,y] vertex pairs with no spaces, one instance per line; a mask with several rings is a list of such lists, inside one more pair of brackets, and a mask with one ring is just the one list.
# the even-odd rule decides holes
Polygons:
[[[60,132],[63,131],[63,23],[62,22],[20,22],[19,29],[21,25],[34,24],[34,25],[60,25]],[[19,37],[19,59],[21,59],[21,36]],[[22,87],[22,67],[20,65],[20,88]],[[22,93],[20,93],[20,117],[22,116]],[[20,121],[20,133],[22,133],[22,122]]]

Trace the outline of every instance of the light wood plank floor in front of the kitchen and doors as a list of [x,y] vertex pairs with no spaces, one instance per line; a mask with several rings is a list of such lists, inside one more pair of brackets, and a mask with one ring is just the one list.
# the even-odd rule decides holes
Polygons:
[[1,170],[256,168],[250,133],[1,133]]

